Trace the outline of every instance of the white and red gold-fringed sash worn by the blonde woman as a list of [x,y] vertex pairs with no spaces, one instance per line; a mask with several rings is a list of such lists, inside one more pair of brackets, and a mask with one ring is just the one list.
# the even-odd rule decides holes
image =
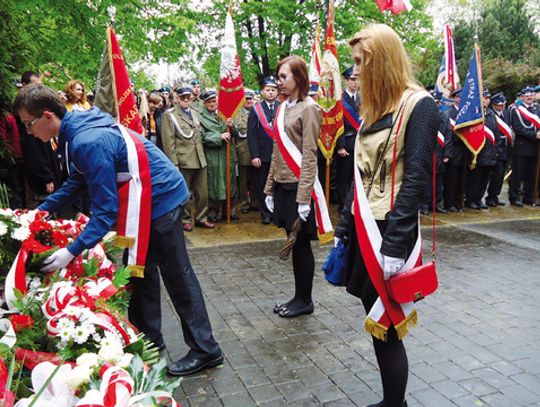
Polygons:
[[[354,222],[358,245],[369,278],[379,295],[366,317],[364,327],[371,335],[385,341],[388,328],[393,325],[401,339],[407,335],[409,327],[416,324],[416,308],[413,302],[398,304],[388,294],[383,278],[382,236],[369,206],[362,176],[356,165],[354,166],[354,184]],[[422,263],[421,242],[420,225],[418,225],[418,238],[403,270],[409,270]]]

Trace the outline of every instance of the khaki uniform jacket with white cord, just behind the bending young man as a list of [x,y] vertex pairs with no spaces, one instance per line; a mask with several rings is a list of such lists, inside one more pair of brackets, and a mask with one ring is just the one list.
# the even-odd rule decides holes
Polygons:
[[178,168],[205,168],[199,112],[194,109],[190,111],[193,119],[179,107],[165,111],[161,129],[163,150]]

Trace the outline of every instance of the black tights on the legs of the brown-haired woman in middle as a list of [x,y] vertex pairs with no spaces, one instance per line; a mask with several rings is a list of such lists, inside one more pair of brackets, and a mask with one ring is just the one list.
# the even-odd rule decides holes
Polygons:
[[294,298],[292,302],[299,303],[299,306],[306,306],[311,303],[313,272],[315,270],[315,259],[309,236],[303,233],[298,235],[292,249],[292,257],[294,270]]

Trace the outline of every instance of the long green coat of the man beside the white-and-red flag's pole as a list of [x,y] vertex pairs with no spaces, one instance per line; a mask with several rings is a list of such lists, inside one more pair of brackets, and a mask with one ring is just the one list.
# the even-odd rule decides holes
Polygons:
[[[221,134],[227,132],[227,124],[217,114],[211,113],[203,107],[201,109],[201,136],[208,162],[208,214],[216,217],[220,207],[227,199],[227,143],[221,139]],[[231,130],[233,138],[238,136],[238,131],[233,126]],[[231,143],[231,200],[237,196],[236,191],[236,148]],[[232,205],[231,205],[232,206]],[[223,215],[225,215],[223,213]],[[223,216],[224,217],[224,216]]]

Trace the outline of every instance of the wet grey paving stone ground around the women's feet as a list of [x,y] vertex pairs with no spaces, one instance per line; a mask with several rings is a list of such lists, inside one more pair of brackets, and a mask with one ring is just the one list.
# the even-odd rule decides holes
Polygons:
[[[405,339],[409,406],[540,405],[540,220],[438,229],[438,292]],[[429,230],[424,235],[429,238]],[[315,313],[282,319],[291,261],[283,241],[190,249],[225,363],[185,378],[183,406],[363,406],[381,399],[360,301],[325,282],[314,242]],[[429,253],[429,240],[424,242]],[[166,356],[187,348],[167,297]]]

